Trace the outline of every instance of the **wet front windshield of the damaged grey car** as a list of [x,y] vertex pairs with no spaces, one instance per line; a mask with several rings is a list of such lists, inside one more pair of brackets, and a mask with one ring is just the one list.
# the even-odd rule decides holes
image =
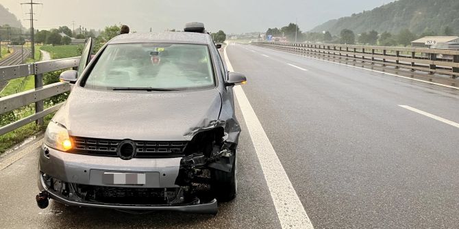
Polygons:
[[214,87],[204,44],[109,44],[84,87],[106,90],[195,90]]

